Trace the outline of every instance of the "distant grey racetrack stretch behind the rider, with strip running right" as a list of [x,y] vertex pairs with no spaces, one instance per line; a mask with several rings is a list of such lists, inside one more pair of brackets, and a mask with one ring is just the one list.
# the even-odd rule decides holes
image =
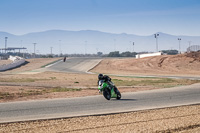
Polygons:
[[[92,73],[89,72],[92,68],[95,68],[100,62],[102,58],[68,58],[66,62],[60,60],[59,62],[49,65],[46,68],[42,68],[42,71],[54,71],[54,72],[67,72],[67,73]],[[104,69],[103,72],[105,72]],[[104,74],[109,74],[110,71],[106,71]],[[100,72],[99,72],[100,73]],[[109,74],[109,75],[117,75],[117,76],[129,76],[129,77],[162,77],[162,78],[174,78],[174,79],[191,79],[191,80],[200,80],[200,76],[187,76],[187,75],[138,75],[138,74]]]

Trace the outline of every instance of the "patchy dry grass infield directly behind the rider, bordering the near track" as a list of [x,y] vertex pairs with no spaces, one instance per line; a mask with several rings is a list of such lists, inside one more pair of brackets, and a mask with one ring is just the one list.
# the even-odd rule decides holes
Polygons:
[[[119,76],[111,76],[111,78],[121,92],[159,89],[199,82],[167,78]],[[67,98],[70,95],[72,95],[71,97],[98,95],[97,75],[55,72],[34,75],[0,75],[0,102]]]

